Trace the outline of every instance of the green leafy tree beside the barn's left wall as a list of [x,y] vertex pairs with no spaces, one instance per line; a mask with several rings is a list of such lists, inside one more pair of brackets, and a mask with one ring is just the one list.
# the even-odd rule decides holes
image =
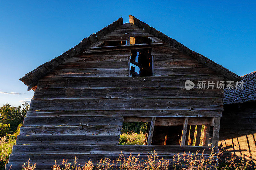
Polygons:
[[[22,103],[22,106],[13,107],[5,104],[0,107],[0,127],[4,128],[3,133],[13,133],[18,128],[19,124],[23,124],[23,119],[29,109],[28,103]],[[5,134],[0,134],[4,136]]]

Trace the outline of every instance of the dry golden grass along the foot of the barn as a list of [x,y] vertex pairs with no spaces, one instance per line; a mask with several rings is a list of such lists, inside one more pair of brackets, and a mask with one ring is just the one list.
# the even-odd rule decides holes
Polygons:
[[[97,165],[93,165],[92,161],[89,159],[85,162],[85,165],[77,165],[77,158],[74,159],[74,164],[71,164],[68,159],[63,158],[62,165],[57,165],[56,161],[53,165],[53,170],[245,170],[250,168],[249,160],[244,157],[239,158],[232,156],[226,158],[221,167],[218,166],[218,160],[221,157],[222,152],[216,153],[212,149],[211,154],[204,154],[204,151],[199,154],[197,151],[195,154],[190,152],[183,152],[182,154],[177,154],[173,156],[173,162],[171,163],[168,159],[159,157],[156,151],[148,153],[146,160],[139,159],[140,154],[137,156],[123,155],[120,154],[119,158],[116,160],[110,160],[109,158],[101,159]],[[218,159],[216,159],[218,158]],[[23,165],[23,170],[35,170],[36,163],[30,164],[29,160]]]

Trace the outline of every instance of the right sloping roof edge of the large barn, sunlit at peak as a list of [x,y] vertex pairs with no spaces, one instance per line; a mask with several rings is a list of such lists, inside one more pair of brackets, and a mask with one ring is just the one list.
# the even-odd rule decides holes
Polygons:
[[192,58],[195,58],[200,63],[203,63],[207,67],[219,72],[220,74],[224,75],[225,78],[232,81],[240,81],[243,78],[238,76],[236,73],[226,69],[225,67],[221,66],[220,64],[215,63],[214,61],[210,60],[209,58],[205,57],[204,55],[201,55],[188,47],[182,45],[180,42],[168,37],[164,33],[156,30],[155,28],[149,26],[146,23],[143,23],[139,19],[135,18],[134,16],[130,15],[130,23],[139,26],[140,28],[144,29],[148,33],[154,35],[156,38],[159,38],[160,40],[169,43],[171,46],[179,49],[180,51],[184,52],[185,54],[191,56]]

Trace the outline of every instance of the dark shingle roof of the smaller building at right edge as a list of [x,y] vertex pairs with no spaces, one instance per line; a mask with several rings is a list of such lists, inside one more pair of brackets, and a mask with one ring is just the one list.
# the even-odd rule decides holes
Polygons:
[[223,104],[256,101],[256,71],[246,74],[242,78],[243,89],[224,89]]

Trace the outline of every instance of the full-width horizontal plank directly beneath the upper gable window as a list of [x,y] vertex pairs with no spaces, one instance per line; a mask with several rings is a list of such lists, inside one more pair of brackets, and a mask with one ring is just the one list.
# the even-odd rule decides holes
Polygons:
[[[186,80],[222,81],[219,75],[161,76],[161,77],[98,77],[98,78],[41,78],[37,84],[40,88],[117,88],[117,87],[184,87]],[[100,83],[99,83],[100,82]]]

